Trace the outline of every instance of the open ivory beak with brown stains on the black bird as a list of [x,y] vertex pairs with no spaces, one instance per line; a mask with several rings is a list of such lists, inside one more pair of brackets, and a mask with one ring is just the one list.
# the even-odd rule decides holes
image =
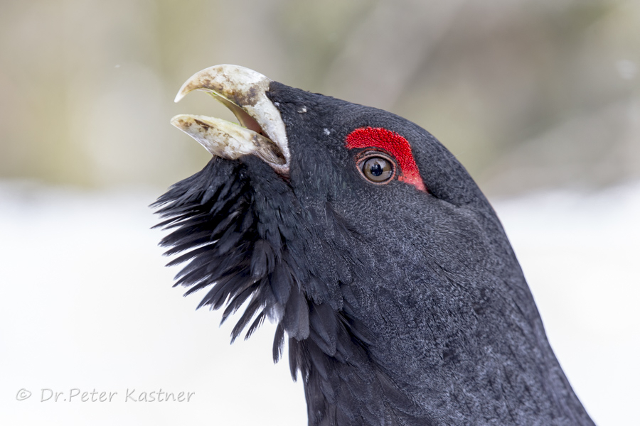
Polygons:
[[208,92],[230,109],[240,124],[208,116],[180,114],[171,124],[211,154],[228,160],[256,155],[282,175],[289,173],[289,146],[280,111],[267,97],[271,80],[238,65],[215,65],[196,72],[181,87],[176,102],[188,92]]

